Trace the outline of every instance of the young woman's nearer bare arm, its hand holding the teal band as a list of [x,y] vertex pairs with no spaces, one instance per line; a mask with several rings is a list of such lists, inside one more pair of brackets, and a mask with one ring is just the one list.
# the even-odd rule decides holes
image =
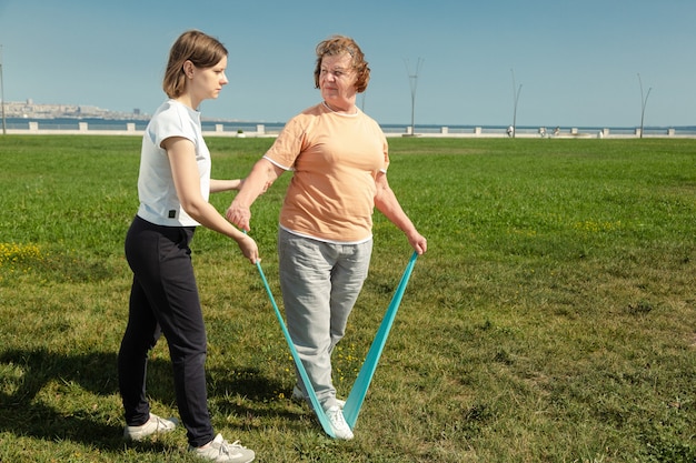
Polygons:
[[200,193],[193,143],[185,138],[172,137],[165,140],[162,147],[167,150],[177,197],[186,213],[201,225],[237,241],[243,255],[256,263],[259,259],[256,242],[225,220]]

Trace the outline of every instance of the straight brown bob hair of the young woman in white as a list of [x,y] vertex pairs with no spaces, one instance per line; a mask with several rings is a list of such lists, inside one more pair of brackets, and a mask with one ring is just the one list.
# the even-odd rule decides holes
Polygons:
[[225,46],[215,37],[197,30],[183,32],[169,51],[169,61],[162,82],[165,93],[169,98],[178,98],[185,92],[183,63],[186,61],[191,61],[197,68],[207,69],[219,63],[227,54]]

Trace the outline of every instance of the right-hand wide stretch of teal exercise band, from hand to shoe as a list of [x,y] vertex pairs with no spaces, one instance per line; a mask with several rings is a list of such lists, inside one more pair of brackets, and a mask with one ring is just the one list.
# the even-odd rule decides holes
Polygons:
[[399,304],[401,303],[404,291],[406,291],[406,284],[408,284],[408,279],[410,278],[410,274],[414,270],[417,258],[418,253],[414,252],[410,260],[408,261],[408,265],[406,265],[406,270],[404,271],[401,281],[399,282],[399,285],[397,286],[397,290],[391,298],[391,302],[389,303],[389,308],[385,313],[385,318],[379,325],[379,330],[377,331],[375,341],[372,341],[372,345],[370,345],[370,350],[367,352],[367,356],[365,358],[362,368],[360,368],[358,378],[356,379],[356,382],[350,390],[350,394],[348,394],[346,406],[344,406],[344,417],[346,419],[346,422],[348,423],[350,429],[354,429],[356,425],[356,421],[358,421],[358,414],[360,413],[360,407],[362,406],[362,402],[365,401],[365,396],[367,395],[367,389],[372,382],[375,370],[377,370],[377,363],[379,362],[381,352],[384,351],[385,344],[387,343],[387,336],[389,335],[389,331],[391,330],[391,325],[394,324],[396,313],[399,310]]

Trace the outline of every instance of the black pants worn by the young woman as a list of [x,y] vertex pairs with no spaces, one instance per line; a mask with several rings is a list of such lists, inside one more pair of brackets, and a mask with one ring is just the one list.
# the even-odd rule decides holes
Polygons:
[[126,236],[133,271],[128,326],[118,356],[119,389],[128,425],[149,419],[146,396],[148,352],[165,334],[177,405],[189,443],[213,437],[206,391],[206,326],[189,243],[195,228],[160,227],[136,217]]

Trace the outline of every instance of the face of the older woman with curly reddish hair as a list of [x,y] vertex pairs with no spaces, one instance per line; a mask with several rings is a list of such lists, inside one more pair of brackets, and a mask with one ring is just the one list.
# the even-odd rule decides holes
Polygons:
[[319,89],[329,104],[340,105],[356,97],[356,71],[350,54],[327,56],[321,59]]

